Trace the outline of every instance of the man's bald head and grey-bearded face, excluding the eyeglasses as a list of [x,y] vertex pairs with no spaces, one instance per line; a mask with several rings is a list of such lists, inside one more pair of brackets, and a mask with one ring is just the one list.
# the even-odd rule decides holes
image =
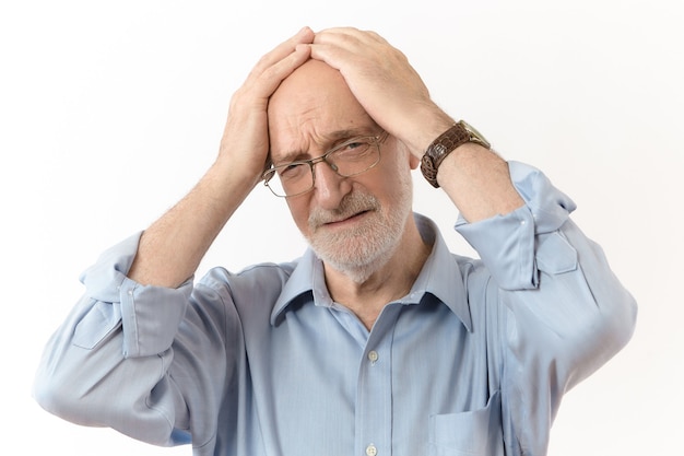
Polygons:
[[[382,133],[342,74],[318,60],[307,61],[281,83],[268,116],[275,165],[318,157],[346,140]],[[287,199],[314,250],[356,281],[391,257],[411,218],[415,159],[392,137],[379,148],[380,162],[354,177],[338,175],[326,162],[316,164],[314,189]]]

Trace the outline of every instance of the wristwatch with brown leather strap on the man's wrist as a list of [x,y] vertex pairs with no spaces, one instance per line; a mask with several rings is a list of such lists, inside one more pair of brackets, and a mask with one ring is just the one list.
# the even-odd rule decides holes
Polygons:
[[421,172],[433,187],[439,187],[439,184],[437,184],[437,169],[444,159],[453,152],[456,148],[467,142],[474,142],[492,149],[490,142],[477,130],[468,125],[465,120],[459,120],[429,144],[421,160]]

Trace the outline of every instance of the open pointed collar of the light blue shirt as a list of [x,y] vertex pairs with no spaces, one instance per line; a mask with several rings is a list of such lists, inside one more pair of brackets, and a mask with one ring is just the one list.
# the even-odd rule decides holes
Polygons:
[[[417,213],[414,217],[421,236],[426,243],[433,244],[433,250],[409,294],[398,302],[420,304],[423,300],[436,297],[447,305],[470,331],[472,330],[470,308],[459,264],[449,252],[435,223]],[[323,264],[311,248],[308,248],[299,258],[292,276],[283,287],[271,313],[271,324],[276,325],[290,304],[305,294],[312,297],[315,305],[332,307],[334,304],[326,287]]]

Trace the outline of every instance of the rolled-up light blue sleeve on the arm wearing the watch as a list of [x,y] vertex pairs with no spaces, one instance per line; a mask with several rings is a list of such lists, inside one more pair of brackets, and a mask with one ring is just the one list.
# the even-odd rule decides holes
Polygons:
[[627,343],[636,303],[570,219],[573,200],[534,167],[509,169],[524,206],[456,230],[499,288],[508,449],[545,454],[563,394]]

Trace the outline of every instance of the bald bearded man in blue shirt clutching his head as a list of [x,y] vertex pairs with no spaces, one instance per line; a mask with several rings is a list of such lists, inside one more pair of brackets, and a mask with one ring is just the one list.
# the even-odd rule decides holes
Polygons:
[[[417,167],[481,260],[413,213]],[[196,283],[260,182],[310,248]],[[378,35],[303,28],[235,93],[192,191],[84,273],[36,398],[196,455],[543,455],[562,395],[636,314],[574,208]]]

